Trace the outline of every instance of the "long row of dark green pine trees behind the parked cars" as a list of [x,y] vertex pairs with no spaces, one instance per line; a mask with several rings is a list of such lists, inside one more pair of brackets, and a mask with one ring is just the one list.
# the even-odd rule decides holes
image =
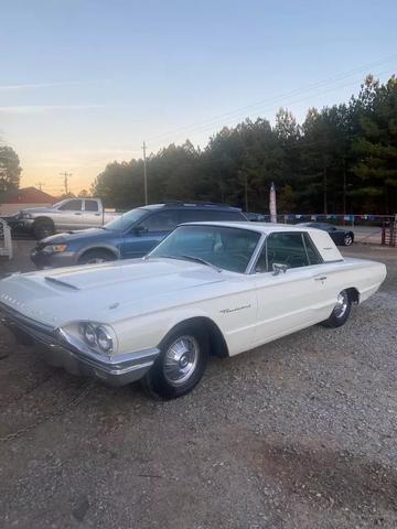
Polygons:
[[[397,78],[368,75],[347,104],[310,108],[302,125],[281,108],[271,126],[246,119],[201,150],[174,143],[147,159],[149,202],[196,199],[280,213],[397,210]],[[108,206],[143,204],[143,161],[109,163],[92,192]]]

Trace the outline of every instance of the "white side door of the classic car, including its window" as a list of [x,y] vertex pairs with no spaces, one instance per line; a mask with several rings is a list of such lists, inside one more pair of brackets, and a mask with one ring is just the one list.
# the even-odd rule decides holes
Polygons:
[[[309,246],[310,245],[310,246]],[[257,290],[255,344],[321,321],[322,259],[307,233],[273,233],[264,244],[254,281]],[[275,273],[273,264],[287,267]]]

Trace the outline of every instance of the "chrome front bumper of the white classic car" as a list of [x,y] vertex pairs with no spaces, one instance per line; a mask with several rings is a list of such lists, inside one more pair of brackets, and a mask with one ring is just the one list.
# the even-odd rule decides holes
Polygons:
[[160,353],[153,347],[127,355],[88,354],[65,342],[58,330],[39,324],[3,304],[0,304],[0,322],[10,328],[18,342],[33,345],[51,366],[62,367],[72,375],[93,377],[110,386],[126,386],[139,380]]

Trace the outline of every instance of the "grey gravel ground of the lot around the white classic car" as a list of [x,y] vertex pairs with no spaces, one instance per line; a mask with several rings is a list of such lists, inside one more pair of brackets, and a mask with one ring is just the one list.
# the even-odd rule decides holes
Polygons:
[[388,277],[344,327],[213,359],[171,402],[87,385],[0,331],[0,436],[33,427],[0,442],[0,527],[395,529],[397,250],[345,253]]

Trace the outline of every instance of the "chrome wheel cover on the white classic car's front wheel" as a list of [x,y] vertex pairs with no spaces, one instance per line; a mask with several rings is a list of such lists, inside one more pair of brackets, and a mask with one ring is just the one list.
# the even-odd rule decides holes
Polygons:
[[200,355],[200,345],[193,336],[180,336],[164,355],[164,376],[171,386],[181,386],[194,374]]

